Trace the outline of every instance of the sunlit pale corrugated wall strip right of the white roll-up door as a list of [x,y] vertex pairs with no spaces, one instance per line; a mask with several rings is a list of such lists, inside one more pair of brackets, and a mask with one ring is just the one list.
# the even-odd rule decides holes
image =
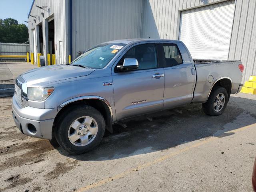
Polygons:
[[245,66],[242,82],[256,75],[256,1],[236,0],[234,25],[230,42],[230,60],[241,60]]

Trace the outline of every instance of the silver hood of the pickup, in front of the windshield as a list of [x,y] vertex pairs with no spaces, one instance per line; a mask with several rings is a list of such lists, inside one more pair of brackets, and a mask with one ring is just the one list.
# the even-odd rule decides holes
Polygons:
[[28,86],[40,87],[51,82],[87,76],[94,70],[95,69],[91,68],[61,64],[32,69],[21,74],[21,76],[26,80]]

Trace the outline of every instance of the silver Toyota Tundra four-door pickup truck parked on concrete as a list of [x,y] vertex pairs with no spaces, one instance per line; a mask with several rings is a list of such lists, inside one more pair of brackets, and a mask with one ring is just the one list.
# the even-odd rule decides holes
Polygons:
[[193,60],[180,41],[115,40],[18,76],[12,115],[23,134],[82,154],[125,118],[192,102],[222,114],[243,70],[241,61]]

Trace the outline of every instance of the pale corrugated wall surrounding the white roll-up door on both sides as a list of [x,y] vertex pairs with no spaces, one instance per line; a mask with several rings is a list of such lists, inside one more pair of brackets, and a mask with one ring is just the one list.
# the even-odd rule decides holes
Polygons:
[[[181,11],[226,1],[228,0],[145,0],[141,38],[178,40]],[[166,6],[161,9],[161,4]],[[250,75],[256,75],[255,8],[255,0],[236,0],[228,59],[242,60],[245,65],[242,82],[248,80]],[[159,15],[164,20],[159,21]]]

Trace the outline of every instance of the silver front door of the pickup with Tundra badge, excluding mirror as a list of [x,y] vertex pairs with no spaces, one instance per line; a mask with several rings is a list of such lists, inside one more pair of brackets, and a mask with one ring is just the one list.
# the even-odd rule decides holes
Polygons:
[[136,70],[112,73],[117,120],[162,110],[164,95],[164,69],[158,62],[156,44],[139,44],[126,51],[124,58],[136,58]]

